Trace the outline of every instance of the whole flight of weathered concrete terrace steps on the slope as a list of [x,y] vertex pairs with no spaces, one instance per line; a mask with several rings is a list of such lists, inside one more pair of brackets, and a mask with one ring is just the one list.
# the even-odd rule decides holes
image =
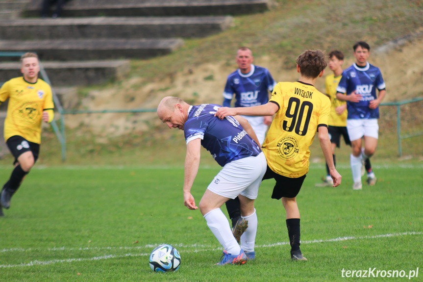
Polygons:
[[[269,9],[270,3],[271,0],[69,0],[63,17],[41,19],[38,17],[42,0],[0,0],[1,10],[37,17],[1,18],[0,14],[0,51],[36,51],[53,85],[100,83],[124,76],[129,71],[127,59],[168,54],[183,45],[181,38],[224,31],[233,23],[228,14],[262,12]],[[19,63],[10,62],[17,60],[0,57],[2,81],[20,75]]]

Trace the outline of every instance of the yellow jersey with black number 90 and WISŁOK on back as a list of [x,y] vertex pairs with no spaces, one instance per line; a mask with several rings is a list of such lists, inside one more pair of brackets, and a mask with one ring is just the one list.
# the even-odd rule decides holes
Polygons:
[[269,102],[279,110],[262,146],[267,164],[279,175],[299,178],[308,172],[318,127],[327,127],[330,100],[311,84],[279,82]]

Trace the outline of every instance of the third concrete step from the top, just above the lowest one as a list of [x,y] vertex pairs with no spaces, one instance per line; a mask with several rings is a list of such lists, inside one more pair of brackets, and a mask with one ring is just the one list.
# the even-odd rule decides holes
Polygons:
[[[37,52],[42,61],[148,58],[168,54],[183,45],[182,39],[55,39],[0,40],[0,51]],[[3,58],[2,60],[6,60]]]

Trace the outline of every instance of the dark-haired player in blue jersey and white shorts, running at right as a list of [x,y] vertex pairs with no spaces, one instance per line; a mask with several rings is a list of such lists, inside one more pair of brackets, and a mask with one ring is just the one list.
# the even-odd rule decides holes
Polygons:
[[[355,63],[342,74],[336,89],[336,98],[347,101],[347,130],[351,140],[350,155],[352,188],[362,189],[361,169],[363,160],[374,154],[377,146],[379,126],[379,104],[385,97],[385,82],[379,68],[369,64],[370,46],[364,41],[354,46]],[[376,95],[378,90],[379,95]],[[364,148],[361,138],[364,136]],[[372,168],[367,171],[367,183],[376,184]]]

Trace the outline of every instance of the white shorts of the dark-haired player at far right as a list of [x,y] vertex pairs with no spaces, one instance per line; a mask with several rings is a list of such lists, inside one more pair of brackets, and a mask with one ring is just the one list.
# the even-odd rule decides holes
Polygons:
[[378,139],[379,125],[377,119],[348,119],[347,130],[349,140],[358,140],[363,136],[369,136]]

